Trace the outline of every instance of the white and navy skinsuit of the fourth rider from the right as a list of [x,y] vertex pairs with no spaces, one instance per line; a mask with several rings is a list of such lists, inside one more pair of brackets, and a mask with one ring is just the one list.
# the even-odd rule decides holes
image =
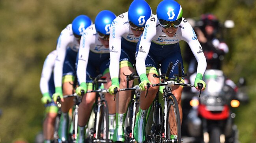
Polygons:
[[79,49],[79,38],[72,31],[72,24],[62,30],[56,47],[57,57],[54,67],[55,87],[62,87],[62,76],[75,76],[75,62]]

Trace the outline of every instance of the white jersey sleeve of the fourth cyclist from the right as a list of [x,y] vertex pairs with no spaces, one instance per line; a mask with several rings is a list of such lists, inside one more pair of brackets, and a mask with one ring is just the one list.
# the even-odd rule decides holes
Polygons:
[[69,33],[62,31],[59,36],[58,44],[56,47],[57,57],[54,65],[54,85],[55,87],[62,87],[62,74],[63,74],[63,64],[66,56],[66,50],[70,42]]

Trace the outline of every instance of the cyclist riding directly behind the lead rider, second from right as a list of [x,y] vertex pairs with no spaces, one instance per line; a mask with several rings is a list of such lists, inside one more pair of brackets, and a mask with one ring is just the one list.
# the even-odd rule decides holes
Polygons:
[[[109,88],[110,94],[114,94],[114,88],[126,88],[126,76],[134,72],[136,43],[144,30],[144,26],[152,11],[144,0],[134,0],[129,10],[120,14],[110,28],[110,77],[112,85]],[[120,85],[119,85],[120,78]],[[131,87],[133,81],[129,82]],[[124,142],[124,120],[131,91],[123,91],[122,95],[116,97],[116,129],[113,141]]]

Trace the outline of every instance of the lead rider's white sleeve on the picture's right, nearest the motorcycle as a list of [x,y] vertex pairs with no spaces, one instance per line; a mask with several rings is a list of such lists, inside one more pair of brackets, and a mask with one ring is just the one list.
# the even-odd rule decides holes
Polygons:
[[206,71],[207,63],[206,63],[206,57],[204,56],[202,46],[197,40],[194,29],[188,22],[186,22],[186,20],[185,20],[184,27],[185,28],[182,30],[182,40],[184,40],[189,44],[189,47],[192,53],[194,54],[196,61],[198,62],[197,73],[204,75],[204,72]]

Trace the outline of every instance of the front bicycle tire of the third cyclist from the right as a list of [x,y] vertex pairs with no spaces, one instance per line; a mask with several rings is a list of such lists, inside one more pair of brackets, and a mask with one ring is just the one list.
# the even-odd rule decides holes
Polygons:
[[100,121],[99,121],[99,127],[98,127],[98,139],[105,140],[105,143],[108,143],[108,105],[106,101],[103,101],[101,103],[101,113],[100,113]]

